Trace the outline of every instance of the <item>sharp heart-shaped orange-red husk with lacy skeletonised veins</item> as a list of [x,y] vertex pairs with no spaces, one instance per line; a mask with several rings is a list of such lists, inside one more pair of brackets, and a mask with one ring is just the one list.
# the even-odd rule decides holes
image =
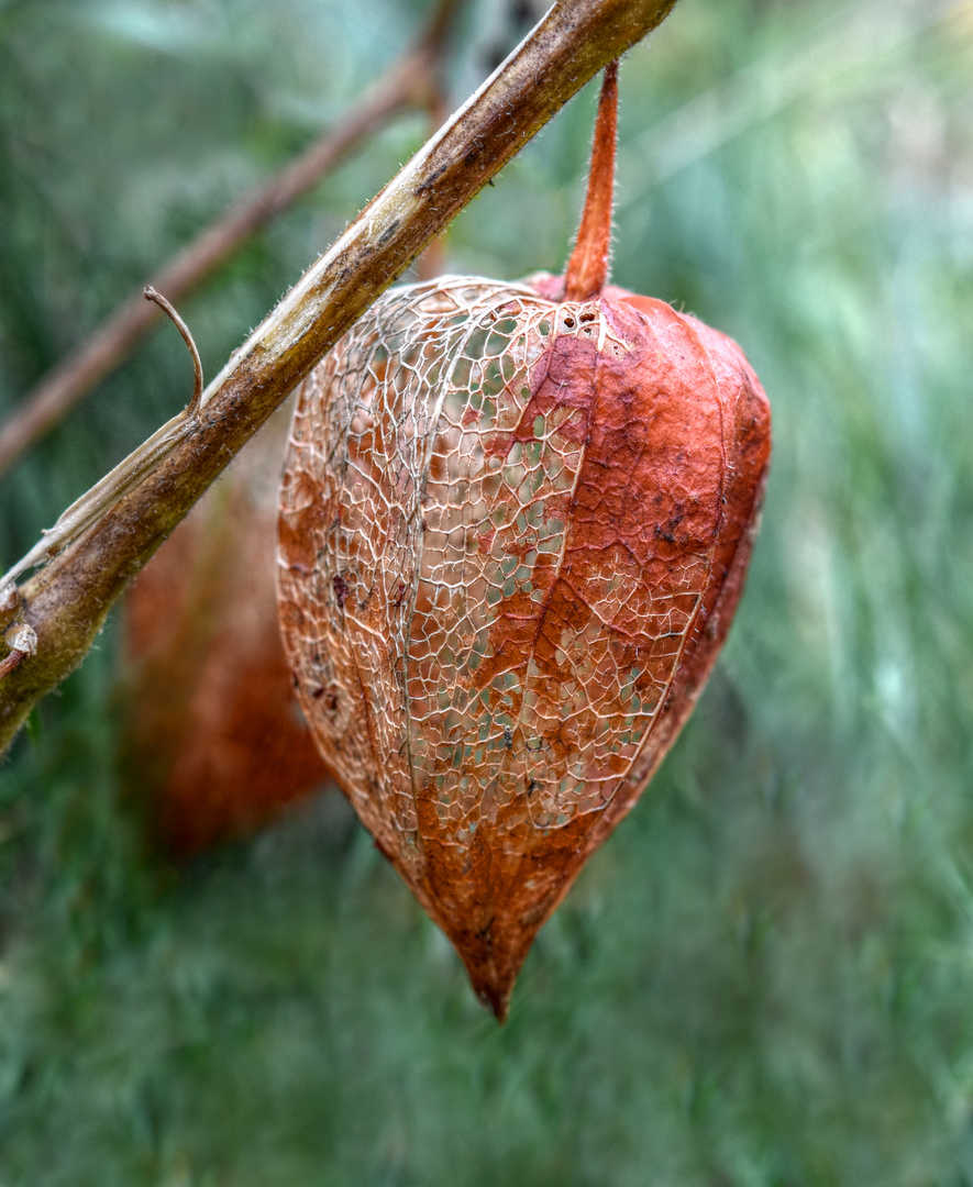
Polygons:
[[314,736],[500,1017],[709,673],[770,452],[729,338],[562,292],[390,290],[304,383],[282,489]]

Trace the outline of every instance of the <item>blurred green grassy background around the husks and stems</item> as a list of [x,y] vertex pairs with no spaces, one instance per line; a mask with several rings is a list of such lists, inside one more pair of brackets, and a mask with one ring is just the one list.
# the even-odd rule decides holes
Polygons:
[[[457,99],[498,19],[463,18]],[[417,23],[0,4],[0,407]],[[773,471],[700,709],[506,1028],[336,796],[146,855],[109,627],[0,782],[2,1187],[973,1183],[972,59],[968,0],[682,0],[626,62],[615,279],[740,341]],[[461,216],[453,271],[561,266],[593,108]],[[422,134],[184,303],[209,374]],[[163,328],[4,483],[4,559],[188,387]]]

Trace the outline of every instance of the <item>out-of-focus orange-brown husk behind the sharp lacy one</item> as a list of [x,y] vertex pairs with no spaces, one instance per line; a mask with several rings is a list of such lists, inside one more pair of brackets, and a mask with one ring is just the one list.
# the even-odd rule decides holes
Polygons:
[[254,832],[329,779],[277,626],[285,432],[267,426],[126,597],[122,768],[153,840],[178,856]]

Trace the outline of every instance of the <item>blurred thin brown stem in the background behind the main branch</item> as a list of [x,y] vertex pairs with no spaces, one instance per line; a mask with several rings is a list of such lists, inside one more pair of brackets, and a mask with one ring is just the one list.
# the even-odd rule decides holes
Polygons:
[[[178,300],[261,227],[333,170],[387,120],[428,101],[449,23],[461,0],[440,0],[427,32],[394,62],[347,118],[328,129],[270,182],[258,186],[204,228],[160,268],[149,286]],[[0,476],[52,429],[100,380],[118,367],[158,311],[133,293],[84,342],[32,388],[0,424]]]

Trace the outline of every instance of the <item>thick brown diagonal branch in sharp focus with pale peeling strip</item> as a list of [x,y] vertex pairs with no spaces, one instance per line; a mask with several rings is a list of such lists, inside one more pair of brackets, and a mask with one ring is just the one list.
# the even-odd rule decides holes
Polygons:
[[[131,577],[233,455],[423,247],[589,78],[675,0],[561,0],[176,417],[29,554],[62,548],[13,598],[36,654],[0,680],[0,748],[84,658]],[[57,528],[57,526],[56,526]],[[26,567],[15,566],[13,573]]]

